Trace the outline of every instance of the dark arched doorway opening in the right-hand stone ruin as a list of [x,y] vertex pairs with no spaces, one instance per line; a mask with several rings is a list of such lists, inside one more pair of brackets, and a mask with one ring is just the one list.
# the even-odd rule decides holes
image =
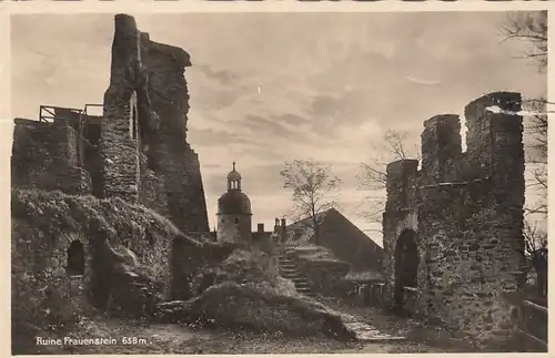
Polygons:
[[416,233],[405,229],[401,233],[395,245],[395,290],[394,305],[402,308],[404,304],[404,288],[417,287],[418,247]]

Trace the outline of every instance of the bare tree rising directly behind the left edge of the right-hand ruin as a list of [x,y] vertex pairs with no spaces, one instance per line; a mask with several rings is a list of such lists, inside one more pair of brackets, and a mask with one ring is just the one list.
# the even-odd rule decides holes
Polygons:
[[[357,175],[359,185],[365,191],[372,192],[366,195],[361,206],[360,215],[370,224],[382,225],[382,214],[385,209],[385,184],[387,163],[420,158],[416,141],[406,131],[387,130],[382,140],[373,145],[372,156],[366,163],[362,163],[362,173]],[[381,233],[380,228],[371,229]]]

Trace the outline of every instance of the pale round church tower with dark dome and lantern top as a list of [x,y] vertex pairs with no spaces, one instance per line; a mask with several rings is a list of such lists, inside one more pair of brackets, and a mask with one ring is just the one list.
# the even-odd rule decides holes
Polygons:
[[228,174],[228,192],[218,200],[218,241],[252,242],[251,200],[241,190],[241,174],[233,170]]

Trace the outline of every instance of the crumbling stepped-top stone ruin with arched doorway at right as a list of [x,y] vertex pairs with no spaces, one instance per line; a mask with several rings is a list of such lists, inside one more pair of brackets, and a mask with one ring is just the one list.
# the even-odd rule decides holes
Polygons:
[[422,168],[387,165],[385,300],[455,338],[511,330],[524,264],[519,110],[518,93],[484,95],[465,108],[465,153],[458,116],[437,115],[424,122]]

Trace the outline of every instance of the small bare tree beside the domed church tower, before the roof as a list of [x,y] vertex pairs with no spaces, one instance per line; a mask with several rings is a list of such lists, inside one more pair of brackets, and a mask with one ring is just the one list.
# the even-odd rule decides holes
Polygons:
[[336,206],[330,194],[339,190],[341,180],[333,175],[330,166],[313,160],[285,162],[280,175],[284,178],[283,187],[293,192],[293,217],[306,219],[319,245],[322,213]]

